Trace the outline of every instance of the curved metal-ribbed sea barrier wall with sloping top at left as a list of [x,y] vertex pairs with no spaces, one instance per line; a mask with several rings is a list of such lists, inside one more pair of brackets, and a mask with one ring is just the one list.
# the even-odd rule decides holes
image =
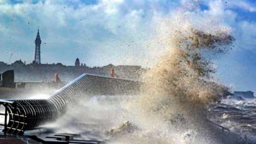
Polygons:
[[6,134],[23,134],[65,114],[67,104],[81,96],[134,95],[139,81],[83,74],[46,100],[0,100],[0,125]]

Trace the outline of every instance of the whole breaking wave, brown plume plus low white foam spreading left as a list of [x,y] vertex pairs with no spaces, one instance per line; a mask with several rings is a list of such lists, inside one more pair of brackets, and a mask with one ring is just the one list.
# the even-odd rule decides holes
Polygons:
[[[104,105],[98,104],[100,97],[94,97],[93,103],[82,102],[76,109],[76,123],[87,128],[93,125],[92,131],[105,130],[109,143],[243,143],[239,136],[207,119],[209,104],[228,93],[228,88],[214,81],[212,60],[232,49],[234,42],[230,28],[210,27],[196,25],[183,13],[164,19],[153,41],[166,50],[144,74],[140,95],[110,103],[113,97],[106,97]],[[70,113],[65,121],[74,117],[74,111]],[[95,128],[95,123],[100,126]]]

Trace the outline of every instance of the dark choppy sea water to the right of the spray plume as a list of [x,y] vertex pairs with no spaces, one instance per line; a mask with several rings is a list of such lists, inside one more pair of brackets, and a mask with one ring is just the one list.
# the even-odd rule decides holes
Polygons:
[[256,143],[256,99],[227,97],[209,107],[208,118],[236,132],[246,143]]

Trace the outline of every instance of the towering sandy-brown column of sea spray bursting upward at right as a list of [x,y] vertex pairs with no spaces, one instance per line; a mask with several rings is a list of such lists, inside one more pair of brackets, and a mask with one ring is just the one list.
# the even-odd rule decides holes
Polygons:
[[206,116],[207,106],[227,91],[213,81],[211,60],[231,49],[230,29],[205,31],[180,15],[164,23],[166,33],[158,40],[168,49],[143,76],[141,95],[129,105],[141,129],[130,138],[140,143],[239,143]]

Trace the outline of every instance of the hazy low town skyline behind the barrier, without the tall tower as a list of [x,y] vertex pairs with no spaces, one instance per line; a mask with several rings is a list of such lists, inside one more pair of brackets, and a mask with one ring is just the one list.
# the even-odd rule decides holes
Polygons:
[[[72,79],[81,76],[81,74],[96,74],[100,76],[109,76],[110,68],[115,70],[116,76],[124,79],[139,80],[147,69],[131,65],[106,65],[104,67],[88,67],[83,63],[83,67],[79,59],[76,59],[76,66],[66,66],[61,63],[30,63],[25,65],[22,60],[17,60],[8,65],[0,61],[0,73],[6,70],[15,71],[15,81],[53,81],[54,75],[58,73],[61,81],[72,81]],[[139,68],[139,69],[138,69]]]

